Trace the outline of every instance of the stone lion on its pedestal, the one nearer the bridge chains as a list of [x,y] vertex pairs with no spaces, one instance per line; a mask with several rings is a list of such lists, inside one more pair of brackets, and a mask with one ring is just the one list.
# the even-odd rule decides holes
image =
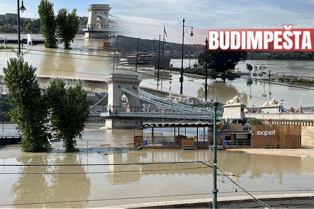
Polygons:
[[240,103],[241,99],[239,96],[235,96],[230,99],[222,107],[224,108],[224,115],[222,119],[240,119],[244,118],[244,108],[246,105]]

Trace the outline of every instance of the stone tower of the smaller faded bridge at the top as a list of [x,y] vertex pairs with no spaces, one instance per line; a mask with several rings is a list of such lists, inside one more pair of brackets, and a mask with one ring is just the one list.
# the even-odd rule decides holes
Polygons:
[[[91,4],[89,5],[88,10],[88,21],[87,27],[89,28],[88,32],[85,33],[85,38],[105,38],[109,36],[109,32],[93,32],[93,29],[96,28],[106,28],[109,25],[108,13],[111,7],[110,4]],[[100,16],[100,15],[101,16]],[[102,17],[103,16],[103,17]],[[99,18],[100,25],[96,25],[96,19]]]

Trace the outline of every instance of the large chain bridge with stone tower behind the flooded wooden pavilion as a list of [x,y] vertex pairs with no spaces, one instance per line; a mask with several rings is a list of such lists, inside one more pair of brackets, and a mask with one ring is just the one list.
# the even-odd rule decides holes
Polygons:
[[140,90],[138,75],[111,73],[106,82],[108,93],[90,107],[90,117],[104,118],[107,129],[134,128],[141,126],[143,120],[213,121],[213,110],[179,104]]

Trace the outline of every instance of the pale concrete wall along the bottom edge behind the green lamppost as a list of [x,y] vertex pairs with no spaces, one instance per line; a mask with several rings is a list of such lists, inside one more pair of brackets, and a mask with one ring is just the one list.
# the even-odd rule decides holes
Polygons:
[[[302,206],[313,204],[314,193],[303,194],[282,194],[282,195],[257,195],[255,196],[260,201],[263,201],[269,206]],[[240,197],[222,197],[217,199],[218,208],[265,208],[254,201],[250,196]],[[212,199],[194,199],[194,200],[179,200],[179,201],[165,201],[165,202],[149,202],[139,204],[129,204],[121,206],[99,207],[102,209],[115,208],[189,208],[189,207],[208,207],[211,208]],[[307,207],[311,208],[311,206]]]

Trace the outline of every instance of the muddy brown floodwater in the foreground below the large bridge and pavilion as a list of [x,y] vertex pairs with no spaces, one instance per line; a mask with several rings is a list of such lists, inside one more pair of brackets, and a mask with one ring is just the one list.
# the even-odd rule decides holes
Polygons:
[[[210,150],[134,150],[133,147],[125,145],[133,141],[133,133],[130,130],[99,130],[100,126],[102,125],[94,124],[85,128],[84,140],[78,141],[80,148],[78,153],[65,153],[62,142],[53,142],[53,147],[56,149],[49,153],[22,153],[19,146],[7,146],[0,149],[0,164],[144,163],[212,159],[213,153]],[[5,125],[5,130],[14,129],[14,127],[13,124]],[[169,132],[169,134],[171,133]],[[86,156],[87,140],[89,140],[88,157]],[[100,144],[111,144],[111,146],[97,147]],[[104,153],[110,154],[103,155]],[[313,159],[228,151],[218,151],[217,158],[219,168],[227,174],[240,175],[241,177],[232,177],[232,179],[246,190],[252,191],[254,195],[306,193],[311,191],[296,190],[314,190]],[[1,166],[0,207],[92,208],[142,202],[211,198],[213,170],[211,168],[182,169],[202,166],[204,165],[201,163]],[[163,170],[146,171],[157,169]],[[136,171],[117,172],[132,170]],[[224,181],[225,183],[218,182],[218,197],[244,196],[240,192],[234,192],[232,187],[235,185],[232,185],[230,180],[225,178]],[[238,188],[238,190],[240,189]],[[195,195],[199,193],[209,194]]]

